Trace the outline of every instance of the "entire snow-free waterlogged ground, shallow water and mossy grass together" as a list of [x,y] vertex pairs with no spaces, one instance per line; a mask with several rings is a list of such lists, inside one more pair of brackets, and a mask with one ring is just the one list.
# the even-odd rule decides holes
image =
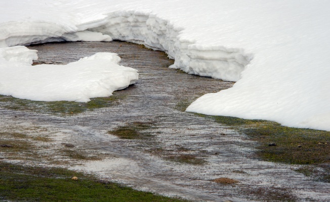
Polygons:
[[[200,95],[233,82],[169,69],[173,60],[166,54],[127,42],[29,48],[38,50],[35,64],[61,65],[97,52],[118,53],[119,64],[138,69],[140,79],[89,103],[0,96],[0,167],[6,179],[1,199],[33,201],[31,187],[38,187],[33,190],[48,194],[40,200],[64,200],[49,195],[72,187],[84,197],[67,194],[71,201],[177,200],[125,185],[190,200],[328,201],[329,132],[184,112]],[[16,183],[23,175],[27,180]],[[81,181],[72,181],[74,175]],[[118,197],[92,194],[96,189],[110,195],[107,191],[115,191]]]

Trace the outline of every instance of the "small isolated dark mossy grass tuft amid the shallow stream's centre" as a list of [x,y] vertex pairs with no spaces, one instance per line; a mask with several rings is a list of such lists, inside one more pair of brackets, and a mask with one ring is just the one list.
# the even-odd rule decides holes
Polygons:
[[108,131],[108,133],[121,139],[147,139],[150,138],[151,135],[142,131],[150,129],[151,127],[152,122],[135,121],[127,124],[126,126],[119,126],[112,131]]

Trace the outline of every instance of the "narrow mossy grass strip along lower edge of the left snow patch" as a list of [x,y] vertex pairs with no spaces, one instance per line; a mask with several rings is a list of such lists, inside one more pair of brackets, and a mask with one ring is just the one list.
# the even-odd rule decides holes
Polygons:
[[126,95],[113,92],[109,97],[91,98],[88,103],[77,103],[69,101],[39,102],[28,99],[19,99],[12,96],[0,95],[0,107],[9,110],[29,111],[47,114],[77,114],[93,111],[99,108],[110,107],[119,104]]

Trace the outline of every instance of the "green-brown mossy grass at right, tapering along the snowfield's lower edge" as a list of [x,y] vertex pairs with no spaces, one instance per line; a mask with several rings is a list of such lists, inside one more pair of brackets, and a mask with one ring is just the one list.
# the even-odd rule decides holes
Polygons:
[[[328,131],[291,128],[264,120],[196,115],[231,126],[232,129],[246,134],[251,140],[257,141],[259,144],[255,155],[259,159],[285,164],[314,165],[318,168],[330,164],[330,132]],[[324,172],[313,172],[313,178],[330,182],[330,175],[326,174],[330,168],[321,170]],[[303,170],[299,172],[307,173]]]

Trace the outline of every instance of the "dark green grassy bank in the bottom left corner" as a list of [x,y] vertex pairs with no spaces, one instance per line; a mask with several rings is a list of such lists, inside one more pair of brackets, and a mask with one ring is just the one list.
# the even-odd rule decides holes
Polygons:
[[[76,176],[78,180],[71,180]],[[15,201],[184,201],[99,181],[63,168],[0,162],[0,200]]]

